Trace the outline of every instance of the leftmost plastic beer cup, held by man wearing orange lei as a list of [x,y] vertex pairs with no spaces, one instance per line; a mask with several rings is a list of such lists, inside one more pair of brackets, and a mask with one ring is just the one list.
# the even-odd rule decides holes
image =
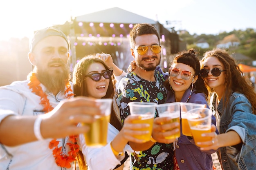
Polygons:
[[96,115],[96,121],[87,124],[90,130],[84,134],[85,143],[90,147],[102,147],[107,144],[108,123],[112,108],[111,98],[97,99],[96,102],[100,103],[101,115]]

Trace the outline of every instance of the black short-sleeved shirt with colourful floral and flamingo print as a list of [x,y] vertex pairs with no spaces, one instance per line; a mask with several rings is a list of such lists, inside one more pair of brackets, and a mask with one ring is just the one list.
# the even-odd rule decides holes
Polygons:
[[[129,102],[165,103],[167,91],[163,84],[163,75],[155,70],[154,76],[156,81],[151,82],[131,72],[119,82],[116,101],[123,123],[130,114]],[[155,117],[157,116],[158,114],[155,113]],[[156,142],[148,150],[139,151],[139,154],[131,153],[131,164],[132,170],[172,170],[173,144]]]

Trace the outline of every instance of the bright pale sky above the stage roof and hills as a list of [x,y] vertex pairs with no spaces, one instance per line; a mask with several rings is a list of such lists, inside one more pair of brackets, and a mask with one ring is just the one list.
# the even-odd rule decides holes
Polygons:
[[1,0],[0,40],[31,38],[38,29],[113,7],[191,35],[256,29],[256,0]]

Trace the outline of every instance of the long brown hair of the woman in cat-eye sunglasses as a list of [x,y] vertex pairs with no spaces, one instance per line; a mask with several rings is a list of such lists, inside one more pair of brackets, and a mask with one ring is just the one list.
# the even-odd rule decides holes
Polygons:
[[[88,96],[88,90],[87,88],[85,88],[86,84],[84,81],[86,76],[85,72],[87,71],[88,67],[93,63],[101,63],[106,68],[106,70],[110,69],[100,58],[96,57],[96,55],[88,55],[83,57],[74,67],[72,83],[74,84],[75,97]],[[102,98],[113,98],[114,95],[115,95],[115,78],[112,75],[110,77],[106,96],[103,96]],[[110,124],[120,131],[122,128],[122,123],[121,123],[119,113],[117,113],[114,110],[114,108],[116,108],[115,105],[116,103],[115,101],[113,101],[111,114],[110,114]],[[81,150],[79,150],[79,152],[77,153],[77,161],[78,161],[80,170],[87,170],[87,165]]]

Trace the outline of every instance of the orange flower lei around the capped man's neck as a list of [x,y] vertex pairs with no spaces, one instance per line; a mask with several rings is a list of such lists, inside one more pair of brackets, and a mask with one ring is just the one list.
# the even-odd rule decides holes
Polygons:
[[[50,112],[51,110],[53,110],[54,108],[52,107],[52,105],[50,105],[49,103],[49,99],[47,98],[47,94],[45,94],[45,92],[43,92],[42,87],[40,86],[40,81],[38,81],[38,79],[36,78],[36,74],[35,73],[31,73],[30,75],[30,81],[28,83],[29,85],[29,89],[32,89],[32,92],[35,93],[36,95],[40,96],[40,104],[43,105],[43,111],[45,113]],[[70,94],[68,94],[69,92],[71,92]],[[72,96],[74,96],[73,90],[71,89],[71,85],[70,82],[67,81],[66,84],[66,88],[65,88],[65,97],[66,98],[70,98]],[[73,161],[76,160],[76,153],[79,152],[79,145],[75,144],[76,143],[76,137],[78,137],[78,135],[72,135],[69,136],[71,143],[67,143],[67,145],[70,147],[70,151],[68,152],[68,155],[66,155],[65,153],[63,153],[62,150],[62,146],[58,148],[58,143],[59,141],[56,141],[56,139],[53,139],[52,141],[50,141],[49,143],[49,148],[54,150],[52,151],[52,154],[55,158],[55,162],[58,166],[60,167],[65,167],[65,168],[71,168],[71,164]]]

